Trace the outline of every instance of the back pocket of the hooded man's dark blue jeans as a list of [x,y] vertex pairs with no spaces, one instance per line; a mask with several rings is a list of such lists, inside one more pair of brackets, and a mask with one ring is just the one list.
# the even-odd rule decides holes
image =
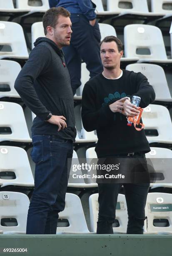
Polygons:
[[43,141],[33,141],[32,143],[33,148],[30,156],[35,164],[39,164],[43,161]]

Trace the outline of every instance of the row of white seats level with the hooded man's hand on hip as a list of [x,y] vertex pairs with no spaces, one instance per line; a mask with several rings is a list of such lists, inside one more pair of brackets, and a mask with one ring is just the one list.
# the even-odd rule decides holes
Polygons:
[[[144,109],[142,120],[149,143],[166,143],[167,147],[172,144],[172,122],[167,108],[151,104]],[[76,138],[76,143],[96,141],[95,132],[87,132],[83,127],[82,133]],[[32,141],[22,107],[13,102],[0,102],[0,144],[7,142],[21,146]]]

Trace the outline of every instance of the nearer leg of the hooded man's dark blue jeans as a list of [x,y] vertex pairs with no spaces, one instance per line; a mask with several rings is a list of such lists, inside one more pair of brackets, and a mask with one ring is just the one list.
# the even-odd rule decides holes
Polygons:
[[57,200],[72,142],[59,138],[57,141],[54,136],[44,135],[33,136],[32,141],[32,159],[36,163],[35,189],[28,210],[26,233],[44,234],[47,216]]

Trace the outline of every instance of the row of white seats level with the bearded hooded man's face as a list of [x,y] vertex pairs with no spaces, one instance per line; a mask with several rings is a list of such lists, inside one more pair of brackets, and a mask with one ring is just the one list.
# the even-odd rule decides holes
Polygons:
[[[117,36],[115,28],[109,24],[100,23],[101,37]],[[15,59],[19,63],[28,59],[28,51],[24,33],[20,24],[0,21],[0,59]],[[17,37],[15,36],[17,34]],[[42,22],[32,25],[32,48],[36,38],[45,36]],[[155,40],[158,38],[158,40]],[[165,44],[160,28],[152,25],[131,24],[124,28],[125,57],[121,64],[153,63],[172,65],[172,59],[167,58]]]

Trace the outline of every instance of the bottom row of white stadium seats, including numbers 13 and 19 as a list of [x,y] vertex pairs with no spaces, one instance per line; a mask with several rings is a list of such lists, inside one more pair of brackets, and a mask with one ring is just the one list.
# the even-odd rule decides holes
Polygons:
[[[67,193],[65,202],[65,210],[59,213],[57,234],[96,233],[98,194],[92,194],[89,198],[90,230],[87,228],[80,198]],[[25,234],[29,203],[29,198],[20,192],[0,192],[0,233]],[[172,194],[148,193],[145,213],[145,234],[172,234]],[[127,231],[127,204],[125,195],[122,194],[119,194],[117,199],[113,231]]]

